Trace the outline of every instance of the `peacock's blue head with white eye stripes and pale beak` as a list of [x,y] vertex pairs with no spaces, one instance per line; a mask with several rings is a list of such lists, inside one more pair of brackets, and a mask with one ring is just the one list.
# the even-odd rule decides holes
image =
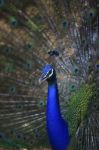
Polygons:
[[53,68],[52,65],[47,64],[42,69],[42,75],[39,79],[39,83],[42,83],[43,81],[51,82],[55,80],[55,78],[56,78],[55,69]]

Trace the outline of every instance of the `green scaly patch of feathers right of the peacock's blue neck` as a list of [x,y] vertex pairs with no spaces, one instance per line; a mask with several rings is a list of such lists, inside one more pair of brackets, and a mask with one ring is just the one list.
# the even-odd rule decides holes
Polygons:
[[79,123],[83,121],[87,115],[92,94],[92,87],[86,84],[82,85],[81,88],[71,96],[67,107],[67,119],[71,135],[76,133]]

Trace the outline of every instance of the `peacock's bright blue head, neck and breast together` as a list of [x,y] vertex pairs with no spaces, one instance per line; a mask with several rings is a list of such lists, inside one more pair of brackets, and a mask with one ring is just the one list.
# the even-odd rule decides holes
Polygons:
[[53,150],[67,150],[69,144],[68,124],[61,117],[54,68],[51,65],[46,65],[43,68],[43,75],[45,76],[43,80],[48,81],[46,121],[49,141]]

